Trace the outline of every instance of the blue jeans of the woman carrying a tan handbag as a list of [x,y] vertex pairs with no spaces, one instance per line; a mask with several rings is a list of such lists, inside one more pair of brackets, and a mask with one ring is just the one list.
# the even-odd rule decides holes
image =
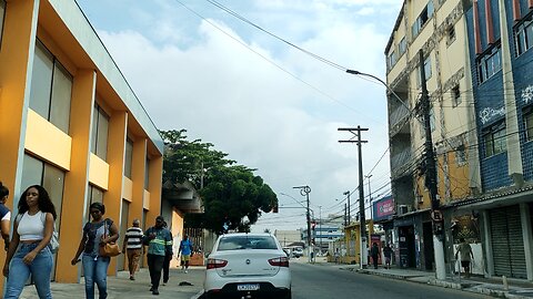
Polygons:
[[100,299],[108,298],[108,267],[109,257],[92,257],[83,254],[83,275],[86,276],[86,298],[94,298],[94,282],[98,287]]

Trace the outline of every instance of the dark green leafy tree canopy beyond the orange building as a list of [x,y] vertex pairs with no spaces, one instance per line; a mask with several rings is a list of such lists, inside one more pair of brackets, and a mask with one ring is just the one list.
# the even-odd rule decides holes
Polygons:
[[163,181],[191,182],[199,190],[204,214],[187,215],[185,223],[214,233],[228,229],[249,231],[261,213],[269,213],[278,198],[255,169],[228,159],[228,154],[213,150],[201,140],[187,141],[185,130],[161,131],[165,143]]

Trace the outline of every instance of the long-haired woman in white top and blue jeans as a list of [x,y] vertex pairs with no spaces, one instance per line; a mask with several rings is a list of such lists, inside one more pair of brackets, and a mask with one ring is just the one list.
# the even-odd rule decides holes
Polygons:
[[3,276],[8,278],[4,299],[19,298],[30,274],[39,298],[52,298],[50,276],[53,262],[48,245],[56,217],[56,207],[42,186],[33,185],[22,193],[3,266]]

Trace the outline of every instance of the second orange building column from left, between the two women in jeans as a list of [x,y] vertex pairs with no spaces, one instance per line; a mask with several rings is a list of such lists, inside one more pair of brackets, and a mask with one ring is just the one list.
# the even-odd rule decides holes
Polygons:
[[[72,84],[70,136],[72,137],[70,171],[64,176],[64,189],[59,224],[61,249],[58,250],[56,281],[78,282],[81,266],[77,271],[70,265],[72,255],[78,250],[86,219],[86,200],[89,182],[90,141],[92,113],[94,107],[94,70],[80,70]],[[72,241],[67,241],[72,240]]]

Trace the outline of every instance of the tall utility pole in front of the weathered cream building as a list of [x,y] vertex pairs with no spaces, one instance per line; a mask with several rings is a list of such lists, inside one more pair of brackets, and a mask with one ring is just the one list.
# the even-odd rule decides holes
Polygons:
[[436,189],[436,165],[435,165],[435,153],[433,152],[433,140],[431,136],[431,106],[430,99],[428,95],[428,86],[425,84],[425,69],[424,69],[424,53],[422,50],[419,51],[419,68],[420,68],[420,78],[422,85],[422,115],[424,116],[424,128],[425,128],[425,187],[430,192],[431,199],[431,218],[433,223],[433,248],[435,256],[435,271],[436,279],[446,278],[446,268],[444,262],[444,245],[442,238],[444,235],[444,219],[440,210],[440,200],[438,197]]

